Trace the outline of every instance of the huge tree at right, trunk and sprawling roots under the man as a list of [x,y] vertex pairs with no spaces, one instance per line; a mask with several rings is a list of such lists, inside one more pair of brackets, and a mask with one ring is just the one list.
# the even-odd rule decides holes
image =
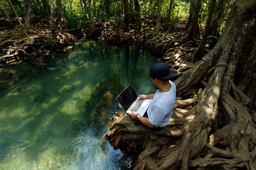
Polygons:
[[176,60],[168,127],[114,115],[106,137],[114,148],[141,152],[134,169],[256,169],[255,18],[256,0],[234,1],[213,50],[196,64]]

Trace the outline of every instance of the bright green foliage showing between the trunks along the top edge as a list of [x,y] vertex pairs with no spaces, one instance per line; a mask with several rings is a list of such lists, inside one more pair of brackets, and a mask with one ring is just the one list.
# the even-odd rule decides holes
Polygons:
[[[169,3],[171,0],[161,0],[161,18],[166,18],[169,10]],[[11,10],[9,5],[9,0],[1,0],[4,4],[7,12],[10,16],[14,16],[14,12]],[[26,0],[12,0],[14,7],[18,16],[22,16],[23,6]],[[133,2],[133,1],[132,1]],[[90,15],[88,10],[88,1],[86,0],[62,0],[63,3],[63,13],[65,16],[66,24],[68,28],[78,28],[86,23],[90,22]],[[82,4],[81,4],[82,3]],[[134,4],[129,3],[133,6]],[[58,13],[56,7],[56,1],[53,0],[55,4],[55,12]],[[82,5],[85,4],[84,10],[82,10]],[[140,12],[142,16],[149,16],[151,18],[156,18],[156,6],[157,0],[139,0]],[[90,8],[92,10],[92,15],[94,20],[97,21],[114,21],[116,26],[120,26],[123,23],[124,12],[122,10],[122,0],[92,0]],[[171,21],[176,22],[178,18],[188,18],[189,17],[190,0],[174,0],[171,9]],[[208,9],[210,8],[210,0],[203,0],[199,22],[206,23],[208,16]],[[132,11],[130,11],[132,12]],[[43,16],[43,4],[42,1],[33,1],[31,15],[32,16]],[[0,17],[4,16],[4,12],[0,6]],[[55,15],[56,16],[56,15]]]

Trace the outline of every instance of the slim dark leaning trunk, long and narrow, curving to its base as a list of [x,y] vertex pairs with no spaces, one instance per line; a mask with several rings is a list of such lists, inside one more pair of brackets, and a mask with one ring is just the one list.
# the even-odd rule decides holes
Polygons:
[[206,21],[206,28],[203,31],[203,36],[202,36],[201,42],[198,46],[198,49],[195,52],[193,52],[193,55],[191,57],[191,62],[194,61],[195,57],[201,60],[203,58],[203,56],[205,55],[206,40],[207,40],[209,31],[210,31],[210,23],[211,23],[212,18],[213,18],[213,11],[214,11],[214,8],[215,8],[215,2],[216,2],[216,0],[211,0],[211,2],[210,2],[210,11],[208,13],[208,18],[207,18],[207,21]]

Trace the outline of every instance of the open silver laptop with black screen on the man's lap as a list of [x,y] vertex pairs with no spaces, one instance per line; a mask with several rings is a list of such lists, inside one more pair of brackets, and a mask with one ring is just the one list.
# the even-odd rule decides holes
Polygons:
[[132,85],[129,84],[124,91],[122,91],[119,96],[117,96],[117,101],[124,108],[126,113],[131,113],[132,111],[137,111],[139,115],[144,115],[152,99],[142,99],[139,98],[132,88]]

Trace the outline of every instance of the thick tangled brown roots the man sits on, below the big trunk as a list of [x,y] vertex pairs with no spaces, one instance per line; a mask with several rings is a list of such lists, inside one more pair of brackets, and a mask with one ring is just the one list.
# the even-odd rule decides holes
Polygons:
[[[139,151],[134,169],[255,169],[256,113],[248,113],[252,102],[235,84],[233,96],[242,103],[221,90],[223,77],[232,76],[225,75],[227,55],[216,59],[215,54],[199,64],[178,65],[178,96],[189,98],[176,98],[166,128],[146,128],[122,111],[114,115],[105,137],[114,148]],[[203,88],[195,88],[198,84]],[[220,126],[218,115],[224,115],[225,125]]]

